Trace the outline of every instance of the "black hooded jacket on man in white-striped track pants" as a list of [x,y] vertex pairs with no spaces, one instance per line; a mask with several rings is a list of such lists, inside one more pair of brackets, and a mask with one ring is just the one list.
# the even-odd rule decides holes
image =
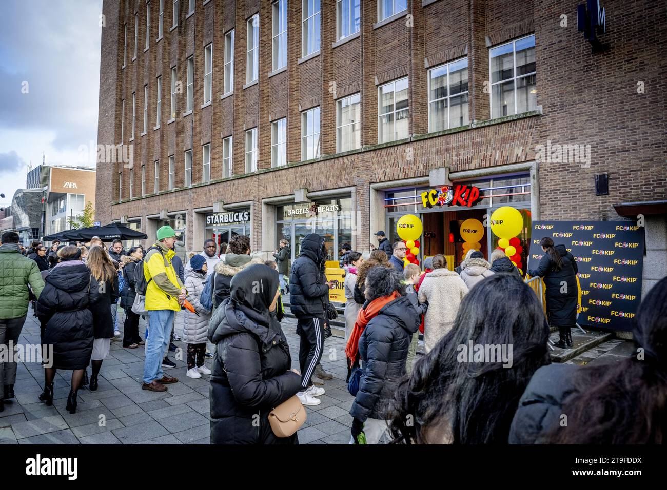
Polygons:
[[324,237],[305,235],[289,274],[289,308],[297,318],[325,318],[329,286],[325,284]]

